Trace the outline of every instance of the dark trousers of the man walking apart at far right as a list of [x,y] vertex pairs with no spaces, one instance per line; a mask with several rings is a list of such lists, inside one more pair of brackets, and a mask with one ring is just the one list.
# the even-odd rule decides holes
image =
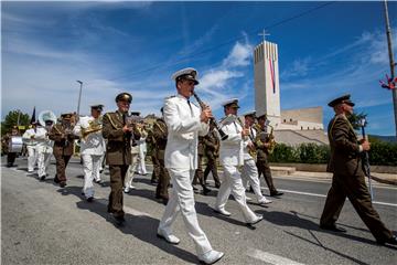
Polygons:
[[333,176],[332,186],[326,195],[324,210],[320,219],[320,225],[335,224],[346,197],[376,240],[385,241],[393,236],[391,232],[380,221],[379,214],[375,211],[364,177],[362,176]]

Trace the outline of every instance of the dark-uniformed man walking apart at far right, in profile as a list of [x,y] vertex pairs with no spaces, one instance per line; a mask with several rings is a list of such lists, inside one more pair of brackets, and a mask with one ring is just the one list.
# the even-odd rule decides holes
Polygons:
[[358,140],[347,116],[353,114],[354,103],[345,95],[329,103],[335,112],[328,127],[331,159],[328,170],[333,172],[332,186],[328,193],[320,227],[334,232],[345,232],[335,222],[342,211],[346,197],[360,218],[379,244],[397,244],[397,239],[380,221],[373,208],[362,169],[362,152],[371,145],[366,139]]

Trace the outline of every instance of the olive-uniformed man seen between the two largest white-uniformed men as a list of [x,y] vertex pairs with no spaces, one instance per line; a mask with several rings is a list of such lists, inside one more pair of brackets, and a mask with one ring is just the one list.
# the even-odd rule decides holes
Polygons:
[[204,170],[204,181],[206,182],[211,172],[215,181],[215,188],[219,189],[221,181],[217,174],[217,158],[219,157],[221,142],[214,123],[210,123],[210,132],[204,137],[203,142],[205,146],[205,156],[207,158],[207,165]]

